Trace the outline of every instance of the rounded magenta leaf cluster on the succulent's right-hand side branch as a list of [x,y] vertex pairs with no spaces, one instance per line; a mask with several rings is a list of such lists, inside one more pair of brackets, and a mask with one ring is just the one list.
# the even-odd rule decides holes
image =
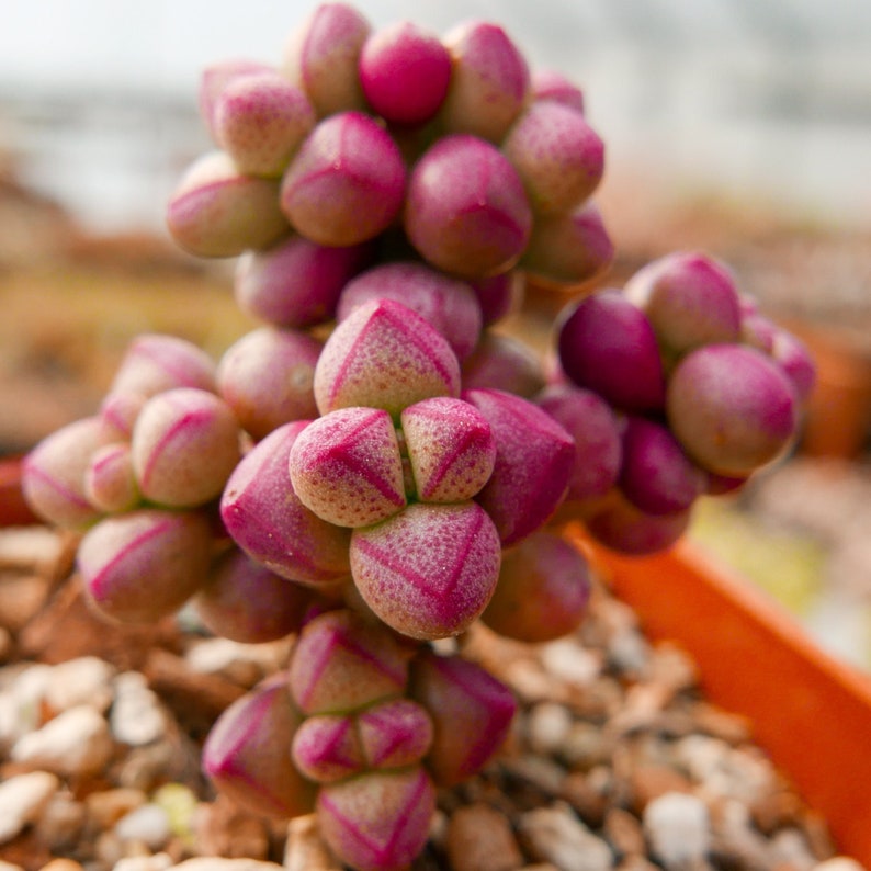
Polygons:
[[556,347],[538,401],[578,446],[566,506],[627,553],[669,546],[698,497],[781,457],[814,383],[806,348],[692,252],[566,306]]

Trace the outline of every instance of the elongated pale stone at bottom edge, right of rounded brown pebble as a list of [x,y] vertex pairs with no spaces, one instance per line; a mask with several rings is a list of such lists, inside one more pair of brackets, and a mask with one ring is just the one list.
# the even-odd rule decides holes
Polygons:
[[562,805],[529,811],[518,828],[528,852],[559,871],[609,871],[614,866],[609,846]]

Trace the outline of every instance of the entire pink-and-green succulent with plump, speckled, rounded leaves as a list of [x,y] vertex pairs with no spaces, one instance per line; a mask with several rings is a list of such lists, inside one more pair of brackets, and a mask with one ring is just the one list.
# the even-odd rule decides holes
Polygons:
[[[698,497],[789,450],[813,364],[704,254],[592,290],[613,254],[602,143],[581,91],[498,25],[440,38],[327,3],[280,67],[207,69],[200,105],[215,150],[168,227],[238,257],[262,326],[218,361],[137,339],[98,411],[29,455],[25,495],[81,531],[109,618],[191,602],[215,634],[292,636],[204,768],[259,813],[316,810],[347,864],[401,868],[514,712],[433,642],[478,620],[572,632],[589,574],[563,517],[670,546]],[[543,286],[569,299],[546,360],[498,329]]]

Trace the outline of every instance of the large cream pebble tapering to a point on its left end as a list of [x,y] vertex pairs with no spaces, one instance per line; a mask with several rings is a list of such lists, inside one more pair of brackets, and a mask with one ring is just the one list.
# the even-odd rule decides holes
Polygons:
[[10,757],[56,774],[88,774],[102,770],[112,751],[105,720],[93,708],[81,704],[23,735],[12,746]]

